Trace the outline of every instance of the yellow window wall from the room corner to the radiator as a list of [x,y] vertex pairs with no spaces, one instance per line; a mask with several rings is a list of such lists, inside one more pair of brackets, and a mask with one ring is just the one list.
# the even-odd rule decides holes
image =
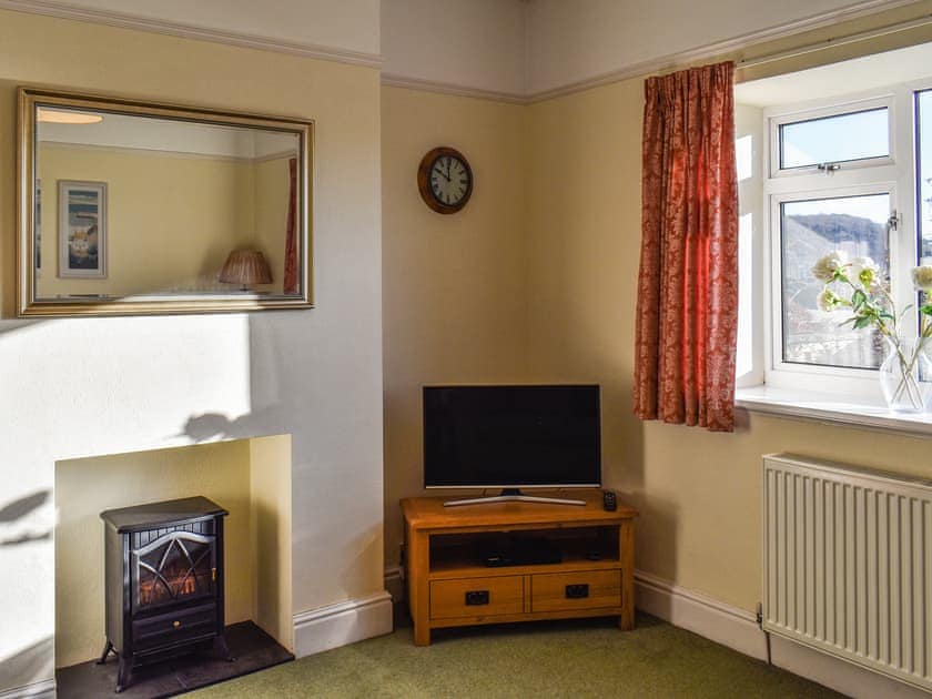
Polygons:
[[930,443],[744,412],[730,435],[635,419],[642,95],[631,79],[529,108],[530,373],[602,385],[604,482],[641,511],[637,567],[753,610],[763,454],[929,477]]

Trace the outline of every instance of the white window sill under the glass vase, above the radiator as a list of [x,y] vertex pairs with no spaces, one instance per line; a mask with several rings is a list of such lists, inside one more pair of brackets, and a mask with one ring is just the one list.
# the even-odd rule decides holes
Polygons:
[[893,413],[882,405],[850,403],[830,394],[752,386],[735,391],[735,405],[752,413],[810,419],[825,425],[932,437],[932,413]]

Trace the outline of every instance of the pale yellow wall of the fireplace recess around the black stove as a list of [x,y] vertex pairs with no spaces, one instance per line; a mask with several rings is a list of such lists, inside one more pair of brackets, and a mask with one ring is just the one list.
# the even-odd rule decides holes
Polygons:
[[224,442],[59,462],[55,465],[55,665],[100,654],[104,637],[103,521],[100,513],[203,495],[230,511],[226,622],[252,618],[250,444]]

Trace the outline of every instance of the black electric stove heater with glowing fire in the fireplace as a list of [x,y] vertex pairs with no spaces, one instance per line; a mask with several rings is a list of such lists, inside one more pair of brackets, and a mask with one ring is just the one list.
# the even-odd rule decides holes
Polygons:
[[119,659],[116,691],[134,665],[212,646],[223,637],[223,517],[205,497],[100,514],[104,521],[107,642]]

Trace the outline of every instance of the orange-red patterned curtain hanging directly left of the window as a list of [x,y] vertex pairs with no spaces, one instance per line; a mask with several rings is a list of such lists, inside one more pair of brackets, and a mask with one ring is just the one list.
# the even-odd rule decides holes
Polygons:
[[735,429],[735,65],[647,80],[635,414]]

